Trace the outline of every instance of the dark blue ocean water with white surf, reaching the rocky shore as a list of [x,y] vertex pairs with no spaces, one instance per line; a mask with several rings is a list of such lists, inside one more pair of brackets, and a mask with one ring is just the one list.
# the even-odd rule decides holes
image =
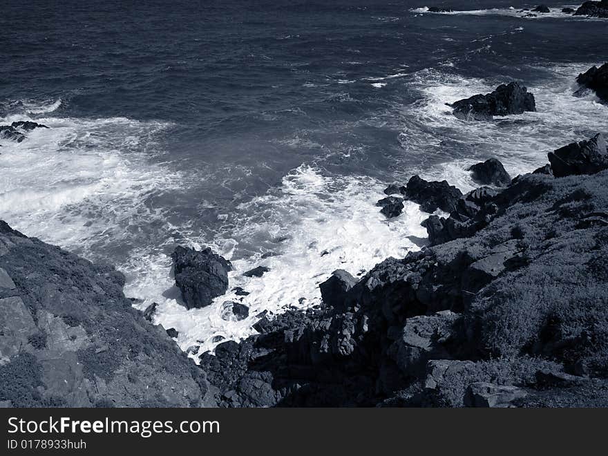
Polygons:
[[[435,14],[428,6],[458,12]],[[408,202],[386,220],[390,182],[419,173],[474,187],[468,165],[511,175],[608,131],[608,106],[573,97],[603,63],[608,21],[534,3],[452,1],[8,1],[0,15],[0,218],[124,272],[140,308],[198,353],[240,339],[263,311],[319,303],[334,269],[364,274],[426,242]],[[517,80],[537,113],[463,122],[446,102]],[[249,292],[186,310],[175,245],[211,246]],[[325,252],[327,252],[325,254]],[[243,272],[265,265],[261,278]],[[196,352],[193,352],[193,356]]]

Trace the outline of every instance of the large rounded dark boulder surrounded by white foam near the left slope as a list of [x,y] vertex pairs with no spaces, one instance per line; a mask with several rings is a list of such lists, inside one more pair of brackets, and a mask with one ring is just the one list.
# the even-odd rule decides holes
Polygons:
[[232,265],[214,254],[209,247],[202,251],[181,246],[171,254],[175,268],[175,285],[189,309],[205,307],[228,289],[228,272]]

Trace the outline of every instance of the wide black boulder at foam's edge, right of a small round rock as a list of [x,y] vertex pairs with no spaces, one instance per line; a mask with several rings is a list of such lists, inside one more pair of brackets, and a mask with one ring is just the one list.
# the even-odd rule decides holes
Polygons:
[[441,209],[451,212],[462,191],[448,184],[446,180],[441,182],[428,182],[419,175],[414,175],[408,181],[403,193],[406,199],[417,202],[425,212],[435,212]]

